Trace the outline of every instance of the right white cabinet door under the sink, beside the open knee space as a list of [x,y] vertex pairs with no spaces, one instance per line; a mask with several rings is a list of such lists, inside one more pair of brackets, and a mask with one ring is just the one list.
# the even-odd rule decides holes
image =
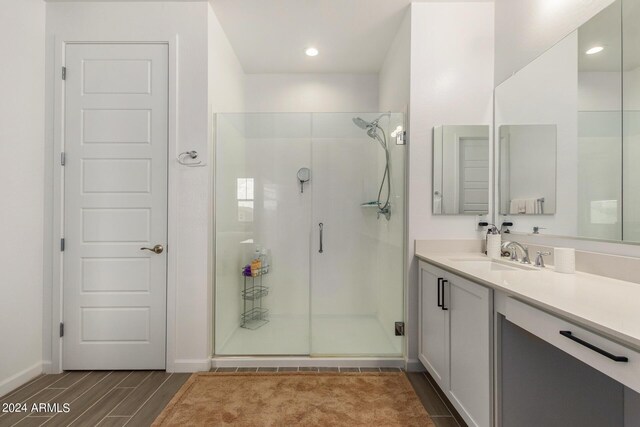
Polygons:
[[491,290],[456,276],[445,284],[449,309],[449,396],[470,426],[491,425]]

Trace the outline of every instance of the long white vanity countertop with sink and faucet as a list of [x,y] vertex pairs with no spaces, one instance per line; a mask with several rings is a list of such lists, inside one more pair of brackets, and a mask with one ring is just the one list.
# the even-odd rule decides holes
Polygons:
[[484,263],[461,261],[487,259],[469,252],[416,256],[640,350],[640,284],[581,272],[556,273],[553,267],[491,271]]

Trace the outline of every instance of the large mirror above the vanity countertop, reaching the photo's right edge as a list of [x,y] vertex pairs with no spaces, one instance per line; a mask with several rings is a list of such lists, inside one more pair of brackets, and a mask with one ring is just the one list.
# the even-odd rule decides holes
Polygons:
[[[514,232],[539,227],[545,234],[640,242],[638,22],[640,0],[616,0],[496,88],[496,223],[510,220]],[[545,175],[557,177],[554,207],[543,190],[513,191],[521,179],[513,170],[538,171],[540,157],[501,149],[504,128],[511,134],[514,125],[531,124],[555,127],[555,173]],[[517,209],[511,202],[520,197],[544,197],[545,215],[521,215],[520,202]]]

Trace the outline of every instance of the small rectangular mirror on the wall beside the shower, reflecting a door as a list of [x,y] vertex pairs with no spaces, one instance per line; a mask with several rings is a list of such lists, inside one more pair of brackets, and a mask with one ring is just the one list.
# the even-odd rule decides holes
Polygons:
[[433,214],[489,212],[489,126],[433,128]]

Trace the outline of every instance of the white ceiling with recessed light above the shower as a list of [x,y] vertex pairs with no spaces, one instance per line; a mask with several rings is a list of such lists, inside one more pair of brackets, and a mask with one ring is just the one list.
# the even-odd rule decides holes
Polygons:
[[211,0],[246,73],[377,73],[410,3]]

